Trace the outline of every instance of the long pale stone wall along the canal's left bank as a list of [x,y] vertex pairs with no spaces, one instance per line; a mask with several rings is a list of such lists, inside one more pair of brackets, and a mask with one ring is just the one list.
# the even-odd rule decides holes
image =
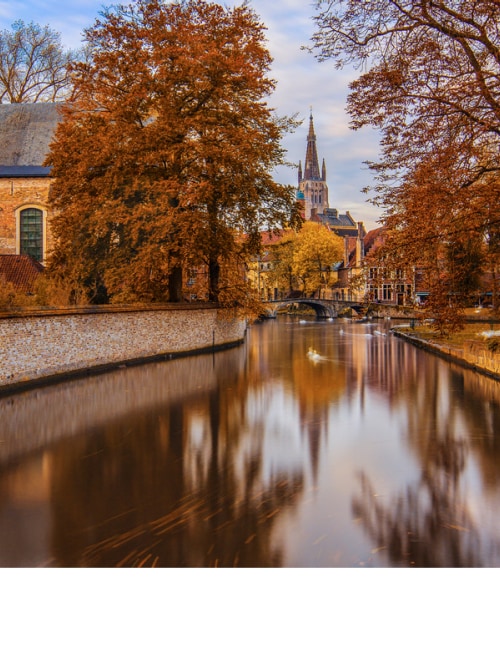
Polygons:
[[0,317],[0,388],[242,341],[246,323],[208,306],[68,309]]

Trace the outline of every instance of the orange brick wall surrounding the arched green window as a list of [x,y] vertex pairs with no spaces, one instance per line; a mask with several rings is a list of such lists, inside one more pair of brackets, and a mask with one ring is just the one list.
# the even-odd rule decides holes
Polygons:
[[44,251],[51,248],[47,201],[50,178],[0,178],[0,253],[16,253],[16,211],[20,207],[41,208],[44,212]]

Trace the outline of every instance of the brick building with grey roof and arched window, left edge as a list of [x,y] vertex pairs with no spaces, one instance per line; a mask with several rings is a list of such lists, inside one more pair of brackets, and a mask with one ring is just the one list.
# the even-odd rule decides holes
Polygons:
[[59,104],[0,105],[0,253],[44,263],[51,246],[44,166],[59,122]]

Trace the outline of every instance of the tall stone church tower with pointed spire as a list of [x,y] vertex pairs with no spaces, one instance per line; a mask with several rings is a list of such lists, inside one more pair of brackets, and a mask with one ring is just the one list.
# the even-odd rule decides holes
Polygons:
[[307,135],[304,171],[302,171],[302,163],[299,162],[299,191],[304,193],[306,220],[311,219],[312,212],[321,214],[329,208],[328,186],[326,185],[326,165],[323,160],[320,172],[312,111],[309,116],[309,132]]

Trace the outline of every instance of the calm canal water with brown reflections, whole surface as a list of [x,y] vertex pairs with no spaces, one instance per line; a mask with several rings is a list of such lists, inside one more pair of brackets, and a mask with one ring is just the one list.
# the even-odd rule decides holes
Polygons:
[[500,566],[500,383],[395,324],[0,398],[0,567]]

